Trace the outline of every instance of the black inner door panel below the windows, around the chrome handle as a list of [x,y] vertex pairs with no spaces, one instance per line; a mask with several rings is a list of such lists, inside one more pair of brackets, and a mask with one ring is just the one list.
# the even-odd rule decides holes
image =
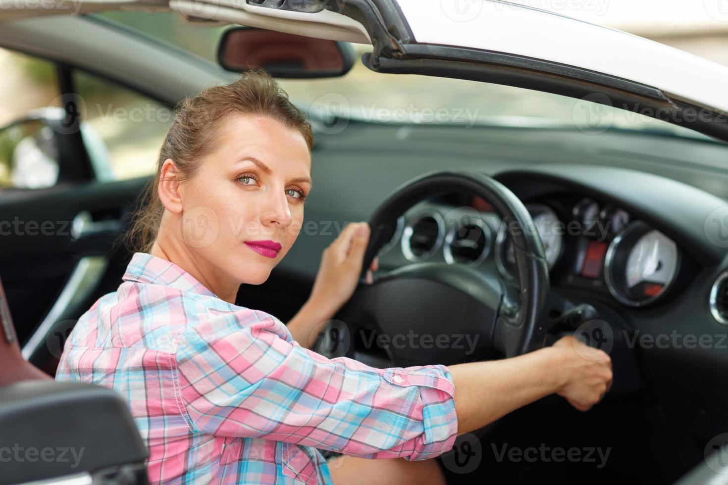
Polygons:
[[[121,275],[114,261],[126,258],[127,250],[123,244],[112,246],[120,242],[135,200],[148,180],[138,177],[0,196],[0,221],[12,223],[10,231],[7,224],[1,226],[8,233],[4,232],[2,238],[0,274],[21,346],[58,300],[82,258],[105,257],[118,286]],[[104,230],[74,231],[74,219],[79,214],[95,217],[97,227]],[[119,226],[114,229],[116,222]],[[76,229],[79,226],[76,219]],[[104,273],[102,278],[106,276]],[[92,294],[98,294],[98,290]]]

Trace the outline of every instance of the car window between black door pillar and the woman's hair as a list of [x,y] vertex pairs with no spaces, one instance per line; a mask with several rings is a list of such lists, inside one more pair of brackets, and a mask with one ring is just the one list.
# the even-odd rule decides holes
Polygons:
[[108,79],[74,71],[82,137],[98,180],[123,180],[154,172],[173,121],[173,108]]

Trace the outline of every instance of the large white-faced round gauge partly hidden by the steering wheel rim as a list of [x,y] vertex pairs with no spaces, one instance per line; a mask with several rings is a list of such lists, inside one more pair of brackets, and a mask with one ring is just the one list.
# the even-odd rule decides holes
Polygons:
[[[526,209],[534,220],[536,231],[544,245],[546,262],[549,269],[553,269],[561,256],[563,249],[564,227],[553,209],[544,204],[528,204]],[[496,265],[507,278],[513,278],[517,273],[515,266],[515,252],[513,241],[507,233],[506,225],[502,225],[496,238]]]

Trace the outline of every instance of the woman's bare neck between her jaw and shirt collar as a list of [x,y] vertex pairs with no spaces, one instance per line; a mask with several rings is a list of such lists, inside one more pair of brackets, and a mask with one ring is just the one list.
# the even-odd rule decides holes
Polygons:
[[[183,243],[181,243],[183,245]],[[163,260],[175,263],[180,268],[189,273],[193,278],[199,281],[205,288],[209,289],[222,300],[235,304],[237,290],[240,288],[240,282],[232,281],[225,278],[221,274],[215,274],[213,268],[205,266],[204,263],[197,260],[194,254],[186,251],[175,239],[166,237],[165,231],[159,228],[159,234],[154,244],[151,246],[149,254],[161,257]]]

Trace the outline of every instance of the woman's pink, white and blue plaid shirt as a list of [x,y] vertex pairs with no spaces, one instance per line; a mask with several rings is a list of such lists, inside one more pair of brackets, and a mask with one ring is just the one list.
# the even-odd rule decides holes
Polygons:
[[135,253],[123,279],[79,318],[56,379],[126,398],[151,482],[331,484],[318,449],[422,460],[453,446],[445,366],[325,358],[151,254]]

